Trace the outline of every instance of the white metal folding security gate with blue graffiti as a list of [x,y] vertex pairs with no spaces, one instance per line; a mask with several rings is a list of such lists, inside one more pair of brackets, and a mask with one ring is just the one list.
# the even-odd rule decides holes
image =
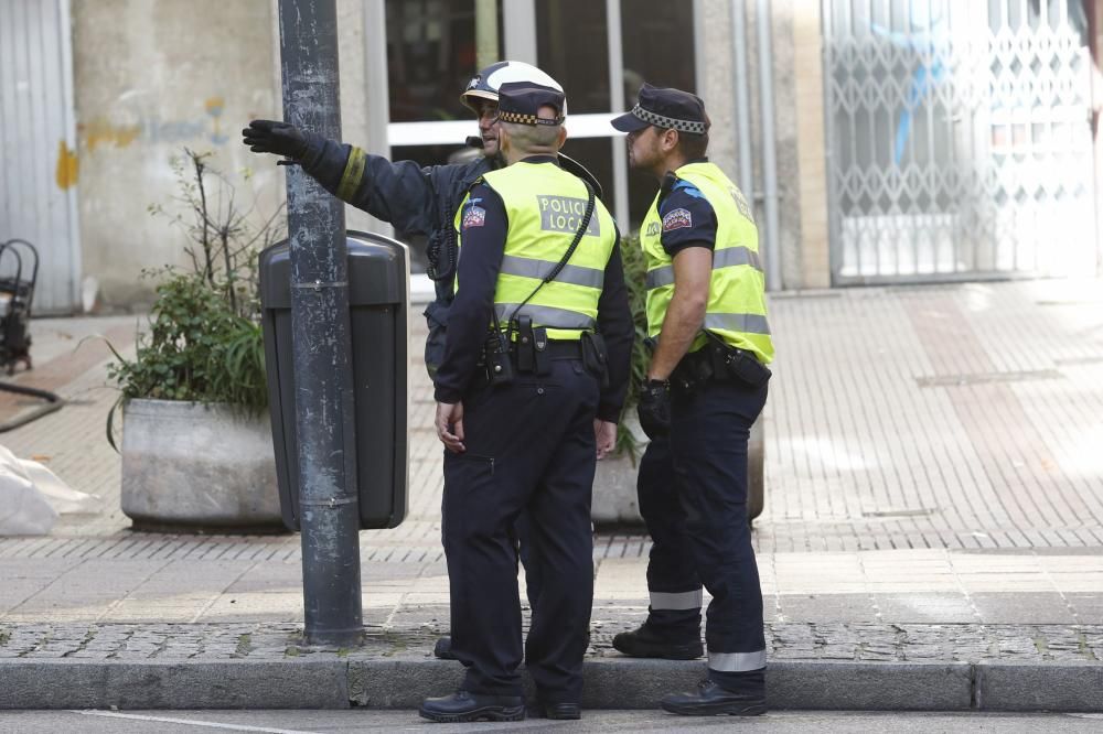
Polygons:
[[1095,272],[1080,0],[824,0],[836,284]]

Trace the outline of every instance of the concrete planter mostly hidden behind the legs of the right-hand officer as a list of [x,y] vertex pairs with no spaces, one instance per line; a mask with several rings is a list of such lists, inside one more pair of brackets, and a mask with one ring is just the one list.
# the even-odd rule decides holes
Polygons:
[[[625,419],[628,429],[640,443],[640,457],[647,444],[647,436],[635,421],[634,415]],[[748,492],[747,511],[751,520],[762,514],[764,505],[764,429],[759,420],[751,429],[748,445],[748,473],[750,486]],[[593,477],[593,503],[590,517],[597,526],[632,526],[642,527],[640,503],[635,493],[635,479],[639,474],[640,457],[635,463],[628,456],[612,456],[598,462],[598,471]]]

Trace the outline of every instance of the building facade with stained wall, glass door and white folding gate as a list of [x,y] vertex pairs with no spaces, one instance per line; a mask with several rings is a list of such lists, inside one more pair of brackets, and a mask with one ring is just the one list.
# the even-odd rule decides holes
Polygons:
[[[644,80],[689,88],[713,160],[756,202],[773,290],[1094,274],[1100,6],[338,0],[342,137],[456,160],[471,75],[535,63],[567,89],[566,152],[631,231],[654,183],[608,121]],[[278,207],[275,161],[238,143],[281,115],[278,55],[275,0],[0,2],[0,241],[42,251],[40,312],[149,302],[141,271],[185,257],[149,214],[176,205],[185,147],[258,216]],[[354,211],[349,226],[386,230]]]

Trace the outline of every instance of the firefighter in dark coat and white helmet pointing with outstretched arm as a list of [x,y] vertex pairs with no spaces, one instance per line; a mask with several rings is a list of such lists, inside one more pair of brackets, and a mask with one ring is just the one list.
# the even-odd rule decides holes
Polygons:
[[[393,224],[400,233],[428,237],[428,276],[437,291],[436,299],[425,310],[429,326],[425,363],[430,377],[443,356],[445,326],[452,302],[456,211],[479,176],[505,164],[499,151],[497,90],[507,82],[558,87],[545,72],[524,62],[496,62],[475,74],[460,95],[460,101],[478,118],[479,137],[468,141],[483,154],[467,163],[422,168],[414,161],[392,162],[356,145],[325,140],[278,120],[253,120],[242,131],[243,141],[251,151],[287,156],[338,198]],[[579,163],[560,155],[560,164],[600,191],[598,182]],[[524,517],[518,520],[516,536],[532,603],[539,595],[539,570],[531,562],[524,542],[526,522]],[[450,640],[443,637],[437,641],[435,652],[437,657],[451,658],[450,648]]]

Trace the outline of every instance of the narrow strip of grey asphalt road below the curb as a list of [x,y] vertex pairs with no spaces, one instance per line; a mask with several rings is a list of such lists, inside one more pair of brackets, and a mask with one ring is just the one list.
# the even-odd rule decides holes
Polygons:
[[408,711],[4,711],[0,733],[81,732],[82,734],[217,734],[261,732],[308,734],[345,732],[685,732],[729,730],[756,732],[1099,732],[1096,714],[979,714],[782,711],[757,719],[687,719],[658,711],[588,711],[580,722],[542,719],[508,724],[432,724]]

